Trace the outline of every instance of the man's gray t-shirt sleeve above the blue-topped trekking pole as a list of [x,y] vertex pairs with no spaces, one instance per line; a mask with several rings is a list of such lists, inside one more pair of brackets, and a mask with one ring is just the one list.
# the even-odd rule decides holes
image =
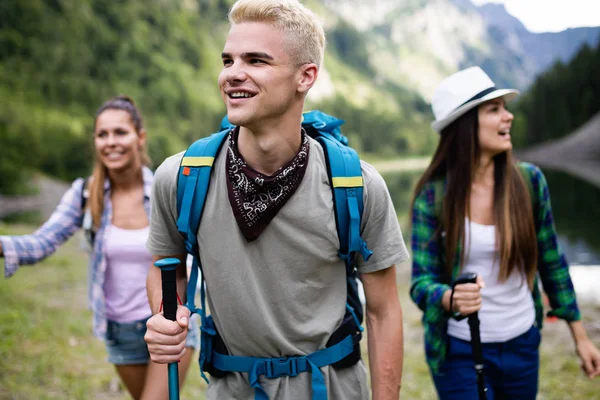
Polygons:
[[183,236],[177,230],[177,174],[182,157],[183,152],[167,158],[154,175],[146,247],[155,256],[186,252]]

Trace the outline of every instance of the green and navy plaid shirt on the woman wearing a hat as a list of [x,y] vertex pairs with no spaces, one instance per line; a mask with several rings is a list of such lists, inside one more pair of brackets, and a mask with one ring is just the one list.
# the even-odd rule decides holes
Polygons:
[[[522,163],[521,168],[529,175],[525,176],[525,179],[530,180],[532,192],[536,197],[534,212],[537,214],[539,261],[532,292],[536,325],[541,329],[544,320],[540,281],[550,302],[551,311],[548,315],[566,321],[577,321],[581,315],[569,275],[569,265],[558,245],[546,178],[533,164]],[[411,240],[413,267],[410,295],[417,306],[423,310],[425,354],[427,363],[434,373],[439,371],[446,356],[448,343],[446,332],[448,319],[451,317],[451,314],[442,307],[442,296],[451,287],[450,282],[445,282],[443,278],[441,255],[444,249],[435,237],[438,227],[435,196],[436,188],[440,187],[443,185],[428,182],[415,199]],[[452,272],[453,280],[458,276],[459,269],[460,265],[456,262]]]

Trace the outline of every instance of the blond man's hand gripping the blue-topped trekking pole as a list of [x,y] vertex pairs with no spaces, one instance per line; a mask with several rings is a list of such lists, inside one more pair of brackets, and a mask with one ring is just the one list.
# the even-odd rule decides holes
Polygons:
[[189,320],[190,310],[182,305],[177,307],[176,321],[169,321],[162,312],[148,320],[144,340],[148,344],[152,361],[167,364],[181,360],[186,352]]

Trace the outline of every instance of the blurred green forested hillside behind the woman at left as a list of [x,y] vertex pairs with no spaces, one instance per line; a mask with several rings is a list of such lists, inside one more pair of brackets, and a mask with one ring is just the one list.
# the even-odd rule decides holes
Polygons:
[[205,22],[224,19],[231,2],[197,3],[0,2],[0,193],[26,189],[30,171],[89,173],[94,113],[117,94],[140,106],[159,162],[214,129],[223,109],[213,35],[226,30]]

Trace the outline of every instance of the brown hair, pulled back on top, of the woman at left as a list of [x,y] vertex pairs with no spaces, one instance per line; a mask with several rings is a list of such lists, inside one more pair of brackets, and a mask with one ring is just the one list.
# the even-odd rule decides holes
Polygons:
[[[128,96],[116,96],[105,101],[100,108],[98,108],[98,111],[96,111],[96,116],[94,118],[94,129],[96,127],[96,121],[98,120],[98,117],[106,110],[127,111],[131,117],[131,122],[133,123],[136,133],[139,135],[144,129],[142,116],[134,101]],[[143,146],[140,149],[140,155],[142,157],[143,165],[148,167],[152,165],[152,161],[150,160],[150,156],[148,156],[146,146]],[[102,164],[98,158],[95,158],[92,177],[88,180],[88,190],[90,196],[87,201],[87,207],[89,207],[92,212],[94,229],[98,229],[100,227],[100,220],[102,218],[102,212],[104,211],[104,181],[106,180],[107,176],[108,170],[106,169],[106,166],[104,166],[104,164]]]

